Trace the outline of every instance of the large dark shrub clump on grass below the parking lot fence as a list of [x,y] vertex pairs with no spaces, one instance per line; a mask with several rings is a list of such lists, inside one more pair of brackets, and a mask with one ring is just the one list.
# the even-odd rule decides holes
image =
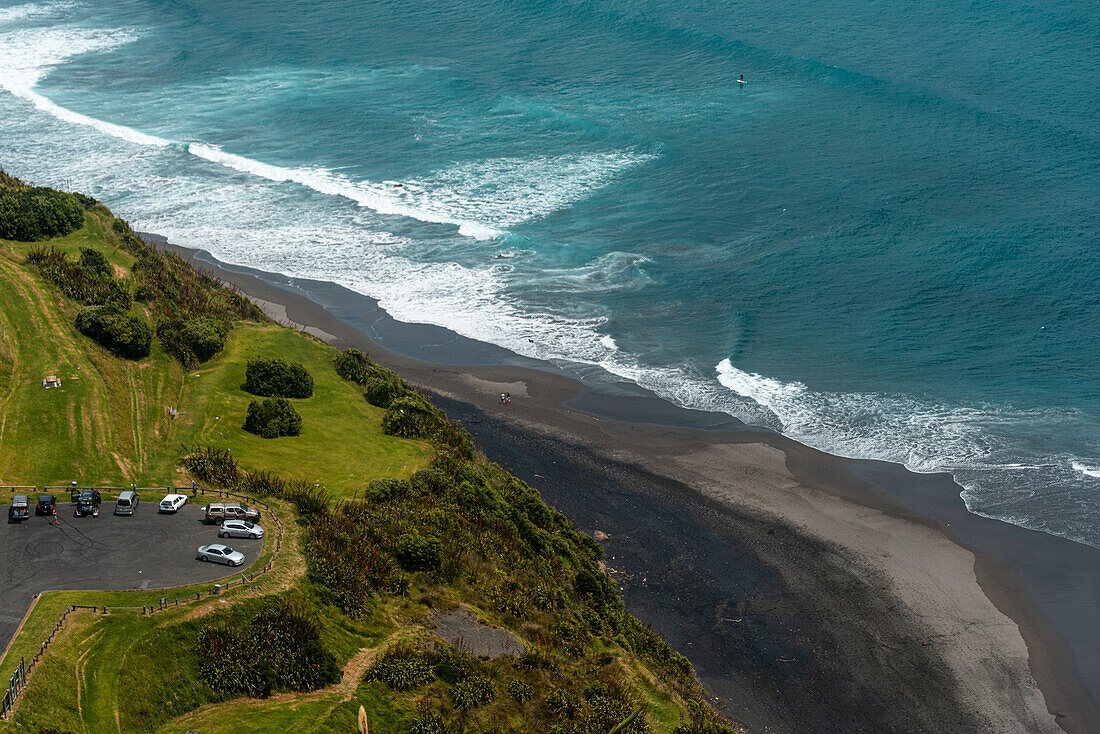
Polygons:
[[340,679],[336,656],[321,644],[321,626],[299,604],[268,598],[249,618],[216,621],[199,635],[199,677],[226,693],[266,697],[312,691]]

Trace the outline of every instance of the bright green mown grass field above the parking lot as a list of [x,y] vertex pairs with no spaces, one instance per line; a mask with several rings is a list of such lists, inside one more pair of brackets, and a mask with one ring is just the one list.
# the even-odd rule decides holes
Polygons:
[[[72,254],[105,252],[118,272],[133,259],[96,216],[46,242]],[[139,362],[119,359],[78,332],[79,305],[63,298],[23,259],[32,245],[0,241],[0,484],[163,486],[184,481],[184,447],[229,448],[243,468],[321,484],[351,496],[369,481],[407,476],[430,458],[427,443],[382,432],[382,410],[332,368],[336,350],[283,327],[242,324],[224,351],[185,372],[160,346]],[[141,310],[141,305],[135,309]],[[250,395],[240,386],[254,355],[304,363],[314,397],[295,401],[301,436],[262,439],[241,426]],[[48,374],[62,379],[45,390]],[[168,408],[179,410],[169,418]]]

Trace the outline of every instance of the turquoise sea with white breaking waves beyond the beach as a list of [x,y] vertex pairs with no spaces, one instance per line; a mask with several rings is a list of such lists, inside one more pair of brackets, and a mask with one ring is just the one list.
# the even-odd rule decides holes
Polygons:
[[0,164],[1100,545],[1098,37],[1009,0],[0,0]]

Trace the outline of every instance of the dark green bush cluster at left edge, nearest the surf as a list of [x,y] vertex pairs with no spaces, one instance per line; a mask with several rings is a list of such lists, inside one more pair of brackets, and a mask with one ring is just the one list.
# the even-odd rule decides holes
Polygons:
[[84,224],[95,199],[41,186],[26,186],[0,171],[0,238],[35,242],[62,237]]

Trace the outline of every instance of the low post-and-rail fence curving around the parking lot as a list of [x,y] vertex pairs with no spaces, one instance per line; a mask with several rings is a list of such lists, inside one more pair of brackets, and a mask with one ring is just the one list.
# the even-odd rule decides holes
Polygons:
[[[36,487],[34,487],[34,486],[8,486],[8,485],[0,485],[0,491],[6,491],[6,490],[9,490],[9,489],[12,490],[12,494],[15,493],[15,490],[30,490],[31,491],[31,492],[23,492],[25,494],[31,494],[34,490],[36,490]],[[64,484],[64,485],[57,485],[57,486],[45,486],[43,489],[46,490],[46,491],[48,491],[48,490],[73,490],[73,489],[78,489],[78,490],[99,490],[99,492],[102,494],[103,492],[108,492],[108,491],[111,491],[111,490],[119,490],[119,491],[121,491],[121,490],[125,490],[127,487],[120,487],[120,486],[77,486],[77,487],[74,487],[72,484]],[[251,583],[252,581],[255,580],[256,577],[263,576],[264,573],[267,573],[268,571],[271,571],[272,568],[274,568],[275,561],[278,558],[278,552],[283,548],[283,533],[284,533],[284,527],[283,527],[283,521],[279,519],[279,516],[275,512],[275,510],[268,503],[264,502],[263,500],[253,499],[250,495],[240,494],[238,492],[231,492],[230,490],[211,490],[211,489],[201,487],[201,486],[186,486],[186,487],[177,486],[174,490],[172,487],[166,487],[166,486],[143,486],[143,487],[136,487],[138,492],[141,492],[142,490],[146,490],[146,491],[156,490],[158,492],[160,491],[164,491],[165,493],[175,492],[176,494],[189,494],[191,496],[199,496],[200,494],[202,496],[206,496],[208,494],[211,494],[211,495],[216,495],[216,496],[220,496],[220,497],[227,497],[227,499],[228,497],[234,497],[234,499],[239,499],[239,500],[244,500],[249,504],[253,504],[253,505],[257,505],[260,507],[263,507],[268,513],[268,515],[272,517],[272,519],[275,521],[275,526],[277,528],[277,532],[275,534],[275,545],[271,549],[271,551],[272,551],[271,557],[267,559],[267,562],[264,565],[263,568],[261,568],[258,570],[255,570],[255,571],[252,571],[251,573],[242,573],[240,577],[238,577],[235,579],[230,579],[229,581],[218,581],[218,582],[216,582],[216,583],[207,587],[206,589],[196,591],[196,592],[190,593],[190,594],[185,594],[183,596],[177,596],[175,599],[170,599],[169,600],[167,598],[167,595],[165,595],[165,596],[162,596],[161,600],[156,604],[145,604],[145,605],[142,605],[142,606],[106,606],[106,605],[95,606],[95,605],[88,605],[88,604],[69,604],[68,606],[65,607],[65,611],[62,612],[61,616],[57,617],[57,623],[54,625],[54,628],[50,631],[50,635],[47,635],[46,638],[38,646],[38,650],[37,650],[37,653],[34,654],[34,657],[31,658],[31,662],[26,664],[26,661],[25,661],[24,658],[20,658],[19,666],[16,666],[15,671],[11,675],[11,679],[8,681],[8,691],[4,693],[3,698],[0,699],[0,720],[7,719],[9,716],[9,714],[12,711],[12,709],[15,706],[15,701],[19,699],[19,694],[22,693],[23,689],[26,688],[26,681],[28,681],[28,679],[31,676],[31,671],[34,670],[34,666],[36,666],[38,664],[38,660],[41,660],[42,657],[46,654],[46,649],[50,647],[50,644],[52,642],[54,642],[54,637],[57,635],[58,632],[61,632],[62,626],[65,624],[65,620],[73,612],[92,612],[92,613],[96,613],[96,614],[110,614],[111,612],[136,612],[136,611],[141,610],[141,613],[143,615],[150,615],[151,616],[153,614],[156,614],[157,612],[163,612],[163,611],[165,611],[165,610],[167,610],[169,607],[176,607],[176,606],[179,606],[180,604],[189,604],[191,602],[198,601],[198,600],[204,599],[206,596],[212,596],[212,595],[220,594],[223,591],[226,591],[227,589],[230,589],[230,588],[232,588],[234,585],[239,587],[239,585],[242,585],[242,584],[245,584],[245,583]],[[188,584],[188,585],[191,585],[191,584]],[[178,588],[178,587],[165,587],[165,591],[167,591],[169,589],[173,589],[173,588]],[[148,590],[147,589],[141,589],[141,590],[134,590],[134,591],[146,592]]]

